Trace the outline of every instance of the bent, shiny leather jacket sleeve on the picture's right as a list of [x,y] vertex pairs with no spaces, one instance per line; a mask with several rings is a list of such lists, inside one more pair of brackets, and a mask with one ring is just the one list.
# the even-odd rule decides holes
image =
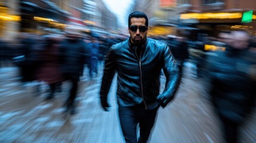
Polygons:
[[178,85],[180,85],[180,72],[175,64],[174,56],[171,54],[169,47],[165,45],[164,47],[164,64],[163,70],[166,77],[165,89],[162,92],[162,96],[165,100],[162,102],[162,107],[165,107],[168,102],[170,102],[177,91]]

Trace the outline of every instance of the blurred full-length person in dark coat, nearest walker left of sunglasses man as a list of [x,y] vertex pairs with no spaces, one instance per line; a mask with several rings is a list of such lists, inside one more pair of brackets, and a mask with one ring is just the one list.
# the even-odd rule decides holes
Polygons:
[[81,71],[84,69],[85,43],[79,31],[72,27],[67,27],[66,37],[67,39],[61,43],[59,50],[60,67],[64,79],[70,80],[72,87],[64,106],[66,106],[66,111],[70,110],[70,114],[75,114],[74,100],[78,91],[79,76],[81,76]]

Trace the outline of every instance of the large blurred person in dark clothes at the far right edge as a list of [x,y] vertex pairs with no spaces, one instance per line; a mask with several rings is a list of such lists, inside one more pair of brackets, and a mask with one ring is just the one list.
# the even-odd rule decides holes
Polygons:
[[[209,57],[209,94],[223,125],[226,142],[238,142],[239,127],[245,122],[255,102],[256,80],[251,70],[255,59],[248,58],[249,35],[231,33],[225,52]],[[229,41],[228,40],[228,41]]]

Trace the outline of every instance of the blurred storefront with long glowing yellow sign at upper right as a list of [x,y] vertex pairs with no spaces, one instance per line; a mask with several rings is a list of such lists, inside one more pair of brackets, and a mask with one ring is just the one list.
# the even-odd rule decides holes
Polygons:
[[256,13],[251,11],[251,20],[242,21],[245,13],[248,10],[236,11],[218,11],[208,13],[183,13],[178,20],[181,25],[189,25],[198,32],[198,39],[200,35],[217,36],[221,30],[243,29],[247,30],[251,35],[256,35]]

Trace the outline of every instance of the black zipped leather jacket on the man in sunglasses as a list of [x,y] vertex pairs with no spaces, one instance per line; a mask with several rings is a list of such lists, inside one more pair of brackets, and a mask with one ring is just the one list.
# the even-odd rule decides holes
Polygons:
[[[115,72],[118,73],[118,104],[133,106],[144,102],[145,109],[153,109],[162,104],[165,107],[174,98],[180,75],[174,57],[166,43],[147,38],[141,49],[140,58],[135,52],[136,46],[127,41],[113,45],[105,59],[105,68],[101,83],[101,100],[107,100],[107,94]],[[167,98],[158,101],[159,76],[161,69],[166,76],[165,90],[161,94]]]

